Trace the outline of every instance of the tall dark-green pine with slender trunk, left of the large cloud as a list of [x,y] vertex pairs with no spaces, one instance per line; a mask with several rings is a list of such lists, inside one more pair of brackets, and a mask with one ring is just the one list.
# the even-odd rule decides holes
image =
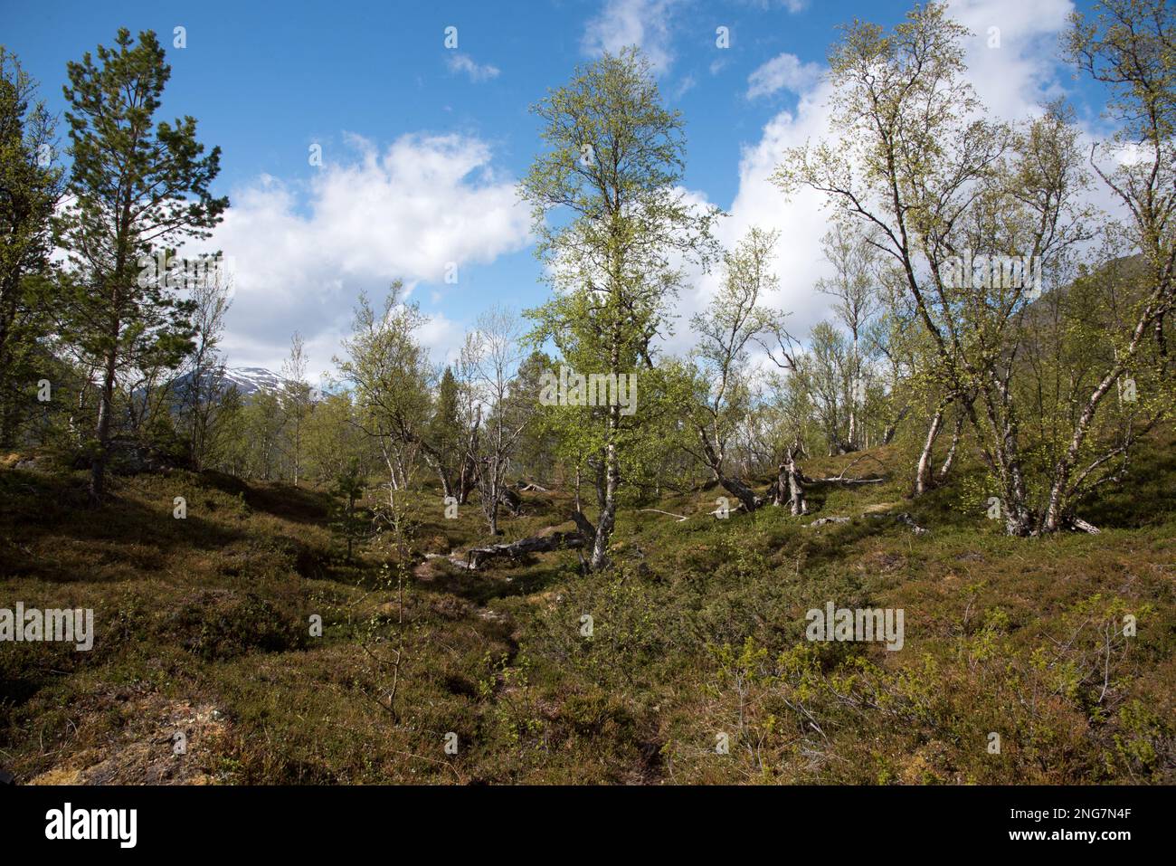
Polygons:
[[[145,355],[178,365],[191,349],[191,305],[162,274],[141,272],[159,248],[203,238],[227,198],[208,187],[220,171],[220,148],[207,155],[191,116],[155,122],[171,67],[155,34],[133,44],[119,29],[115,47],[98,47],[67,67],[73,205],[60,219],[69,252],[64,333],[100,375],[91,497],[101,498],[116,377]],[[174,365],[173,365],[174,366]]]

